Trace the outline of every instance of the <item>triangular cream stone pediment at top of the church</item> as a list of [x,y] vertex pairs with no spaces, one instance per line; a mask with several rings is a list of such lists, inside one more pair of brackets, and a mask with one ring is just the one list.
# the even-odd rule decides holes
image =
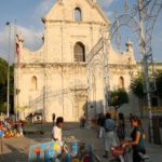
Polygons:
[[79,9],[81,12],[81,22],[109,25],[109,19],[98,4],[92,0],[57,0],[43,21],[75,23],[76,9]]

